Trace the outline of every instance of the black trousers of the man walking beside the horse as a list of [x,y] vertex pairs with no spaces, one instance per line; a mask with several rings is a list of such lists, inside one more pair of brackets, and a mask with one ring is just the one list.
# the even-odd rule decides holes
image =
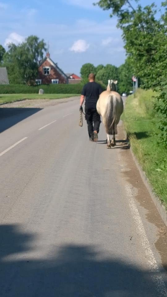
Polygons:
[[85,105],[85,119],[88,125],[89,137],[93,137],[93,131],[99,132],[101,123],[100,115],[98,114],[96,107],[88,107]]

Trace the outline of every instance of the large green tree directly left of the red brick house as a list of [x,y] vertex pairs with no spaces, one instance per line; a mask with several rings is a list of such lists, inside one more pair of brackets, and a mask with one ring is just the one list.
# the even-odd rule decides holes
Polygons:
[[18,46],[9,44],[8,52],[3,56],[3,66],[7,67],[10,83],[33,84],[38,75],[37,61],[45,50],[44,41],[36,36],[29,36]]

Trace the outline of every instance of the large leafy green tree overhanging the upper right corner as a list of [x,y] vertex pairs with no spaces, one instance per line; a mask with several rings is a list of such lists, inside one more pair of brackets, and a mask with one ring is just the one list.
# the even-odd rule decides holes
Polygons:
[[[154,4],[144,8],[138,5],[134,9],[130,0],[101,0],[97,4],[104,10],[111,9],[112,15],[117,16],[118,27],[123,31],[126,53],[143,87],[160,85],[167,72],[166,13],[156,19]],[[163,6],[166,5],[167,2],[164,2]]]

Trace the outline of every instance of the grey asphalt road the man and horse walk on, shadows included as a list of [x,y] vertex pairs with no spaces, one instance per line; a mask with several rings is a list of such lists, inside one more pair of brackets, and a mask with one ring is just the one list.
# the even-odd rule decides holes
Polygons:
[[78,109],[0,110],[0,296],[167,296],[128,147],[89,142]]

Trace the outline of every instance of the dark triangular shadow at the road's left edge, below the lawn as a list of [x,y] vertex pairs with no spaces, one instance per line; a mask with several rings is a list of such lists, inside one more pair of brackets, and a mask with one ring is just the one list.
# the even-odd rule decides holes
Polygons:
[[0,107],[0,133],[40,110],[41,108]]

